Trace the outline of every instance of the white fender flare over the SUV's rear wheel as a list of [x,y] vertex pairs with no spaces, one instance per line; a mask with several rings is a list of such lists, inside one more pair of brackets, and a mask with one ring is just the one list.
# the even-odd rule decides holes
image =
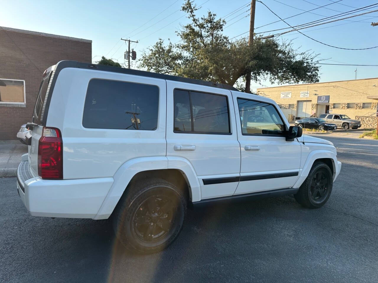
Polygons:
[[194,169],[189,161],[180,157],[171,158],[172,157],[167,158],[166,156],[140,157],[128,160],[122,164],[114,174],[114,182],[93,219],[97,220],[108,218],[112,214],[130,180],[135,176],[135,174],[143,171],[160,169],[180,170],[187,179],[189,193],[192,195],[192,200],[200,200],[200,185]]

